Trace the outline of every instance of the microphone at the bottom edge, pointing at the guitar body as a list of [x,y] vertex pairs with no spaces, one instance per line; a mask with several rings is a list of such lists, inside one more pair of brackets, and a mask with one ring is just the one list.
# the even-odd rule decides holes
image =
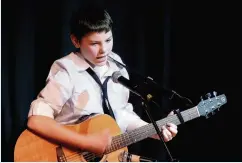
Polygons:
[[156,159],[133,155],[126,151],[123,151],[122,153],[120,153],[118,156],[118,159],[120,162],[157,162]]

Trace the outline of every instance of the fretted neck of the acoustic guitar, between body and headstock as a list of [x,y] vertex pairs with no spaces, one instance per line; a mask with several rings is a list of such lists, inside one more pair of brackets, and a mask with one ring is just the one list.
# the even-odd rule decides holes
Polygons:
[[[200,117],[200,114],[198,112],[197,107],[193,107],[191,109],[187,109],[185,111],[181,112],[182,118],[184,122],[190,121],[192,119]],[[161,128],[161,126],[164,126],[166,123],[173,123],[175,125],[180,125],[181,122],[178,118],[178,116],[171,115],[164,119],[161,119],[159,121],[156,121],[157,126]],[[141,141],[143,139],[146,139],[148,137],[151,137],[152,135],[156,134],[156,130],[152,123],[147,124],[145,126],[139,127],[137,129],[134,129],[130,132],[123,133],[121,135],[117,135],[113,137],[111,146],[106,150],[106,153],[111,153],[113,151],[116,151],[118,149],[121,149],[123,147],[129,146],[133,143],[136,143],[138,141]]]

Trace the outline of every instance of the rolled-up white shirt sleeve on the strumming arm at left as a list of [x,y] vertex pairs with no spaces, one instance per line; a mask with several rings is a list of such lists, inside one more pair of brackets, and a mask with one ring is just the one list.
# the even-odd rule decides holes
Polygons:
[[43,115],[55,118],[71,97],[73,84],[66,69],[55,62],[49,72],[45,87],[31,103],[28,117]]

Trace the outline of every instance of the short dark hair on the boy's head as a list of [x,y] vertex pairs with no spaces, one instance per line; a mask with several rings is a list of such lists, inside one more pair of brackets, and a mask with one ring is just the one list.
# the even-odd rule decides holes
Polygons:
[[113,21],[106,9],[89,5],[72,13],[70,34],[81,40],[83,36],[90,32],[109,32],[112,30],[112,23]]

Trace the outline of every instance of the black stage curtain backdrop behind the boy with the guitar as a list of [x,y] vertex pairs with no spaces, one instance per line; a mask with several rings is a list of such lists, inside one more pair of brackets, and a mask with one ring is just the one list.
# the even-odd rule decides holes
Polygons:
[[[84,0],[2,1],[2,161],[13,161],[14,145],[25,129],[31,101],[44,87],[51,64],[73,46],[68,36],[71,11]],[[228,103],[209,119],[178,127],[167,143],[180,161],[242,161],[240,123],[239,5],[231,1],[112,1],[114,52],[133,70],[172,88],[195,105],[211,91]],[[137,79],[135,74],[131,78]],[[131,94],[135,111],[149,121]],[[158,120],[174,109],[166,97],[152,107]],[[176,108],[187,109],[183,105]],[[146,139],[130,152],[163,161],[159,141]]]

